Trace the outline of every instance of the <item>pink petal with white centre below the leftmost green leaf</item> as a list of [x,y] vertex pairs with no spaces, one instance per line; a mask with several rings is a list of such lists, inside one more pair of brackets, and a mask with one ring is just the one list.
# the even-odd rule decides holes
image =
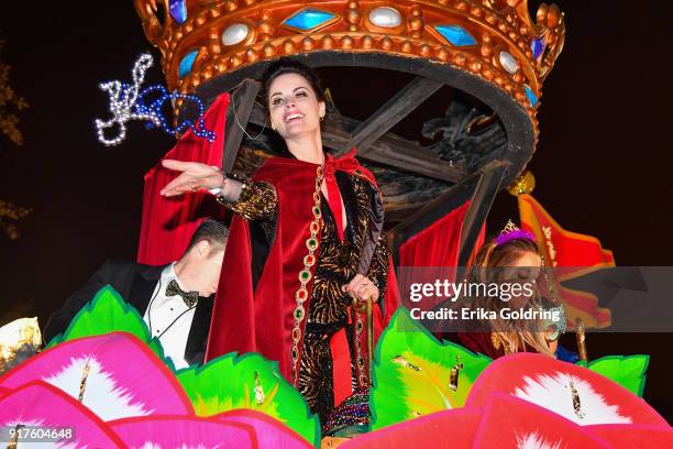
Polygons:
[[170,369],[145,343],[124,332],[60,343],[0,377],[0,387],[16,388],[33,381],[48,383],[76,399],[81,394],[82,405],[103,420],[194,414]]

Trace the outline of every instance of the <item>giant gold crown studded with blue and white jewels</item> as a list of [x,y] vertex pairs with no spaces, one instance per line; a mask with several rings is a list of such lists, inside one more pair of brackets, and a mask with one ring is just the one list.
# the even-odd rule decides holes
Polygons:
[[280,56],[395,55],[496,86],[528,111],[536,131],[542,81],[565,34],[556,6],[542,3],[533,21],[527,0],[135,0],[135,8],[172,90],[191,92]]

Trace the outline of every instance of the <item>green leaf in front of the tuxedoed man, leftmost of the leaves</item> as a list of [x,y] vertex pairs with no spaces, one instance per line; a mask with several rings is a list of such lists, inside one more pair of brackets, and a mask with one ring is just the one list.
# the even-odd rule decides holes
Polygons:
[[152,338],[150,329],[137,309],[126,303],[110,285],[106,285],[98,291],[93,299],[87,303],[73,318],[66,331],[54,337],[47,348],[77,338],[101,336],[114,331],[129,332],[137,337],[142,342],[150,346],[166,364],[172,369],[174,368],[170,359],[164,359],[161,342]]

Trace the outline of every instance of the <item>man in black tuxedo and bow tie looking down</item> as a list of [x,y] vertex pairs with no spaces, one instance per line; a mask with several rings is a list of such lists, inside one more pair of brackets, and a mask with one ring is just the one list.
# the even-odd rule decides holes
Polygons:
[[196,230],[177,262],[150,266],[106,261],[65,306],[52,315],[44,329],[45,340],[65,331],[96,293],[110,284],[140,311],[176,369],[202,363],[228,237],[227,226],[208,218]]

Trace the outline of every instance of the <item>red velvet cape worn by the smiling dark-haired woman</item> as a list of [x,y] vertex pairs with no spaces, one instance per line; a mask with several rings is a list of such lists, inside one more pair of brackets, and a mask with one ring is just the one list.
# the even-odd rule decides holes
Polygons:
[[[336,171],[361,176],[378,191],[372,173],[363,168],[353,155],[354,152],[351,152],[339,160],[329,157],[327,169],[331,165]],[[311,207],[317,168],[316,164],[273,157],[253,175],[255,182],[271,183],[278,195],[276,237],[253,292],[249,223],[239,216],[232,219],[210,325],[207,361],[229,352],[258,352],[277,361],[280,373],[293,382],[293,310],[297,306],[295,292],[300,285],[299,272],[304,270],[304,256],[308,253],[306,240],[313,219]],[[308,309],[312,277],[307,288],[309,300],[305,307]],[[379,298],[380,307],[374,307],[375,335],[379,335],[398,304],[399,293],[390,263],[385,298]],[[302,321],[302,336],[305,324],[306,318]],[[362,354],[365,354],[366,328],[361,336],[361,348]]]

